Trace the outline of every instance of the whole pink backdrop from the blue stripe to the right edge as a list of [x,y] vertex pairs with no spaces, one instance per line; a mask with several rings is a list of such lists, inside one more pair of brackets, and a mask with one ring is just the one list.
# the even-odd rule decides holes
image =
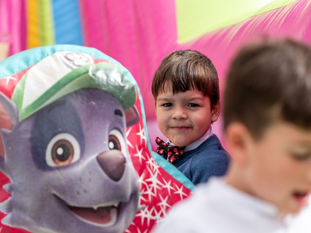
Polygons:
[[[127,67],[136,78],[145,104],[150,140],[155,148],[159,132],[151,94],[151,81],[165,55],[173,50],[194,49],[215,64],[221,94],[225,74],[235,52],[262,35],[290,36],[311,43],[311,3],[298,0],[280,9],[208,33],[186,44],[177,44],[174,0],[80,0],[86,46],[102,50]],[[222,119],[213,124],[221,139]]]

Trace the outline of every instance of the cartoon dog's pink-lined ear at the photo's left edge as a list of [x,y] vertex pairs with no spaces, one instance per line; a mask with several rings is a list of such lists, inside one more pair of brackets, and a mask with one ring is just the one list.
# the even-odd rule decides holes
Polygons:
[[11,130],[17,123],[17,106],[0,92],[0,156],[5,157],[1,131]]

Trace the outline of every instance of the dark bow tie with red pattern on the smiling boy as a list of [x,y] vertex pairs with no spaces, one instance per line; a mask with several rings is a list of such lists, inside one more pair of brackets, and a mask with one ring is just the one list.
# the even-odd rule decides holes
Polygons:
[[156,137],[155,143],[157,144],[157,149],[155,150],[155,152],[159,155],[167,156],[171,164],[179,160],[180,156],[184,153],[184,150],[186,148],[170,146],[159,137]]

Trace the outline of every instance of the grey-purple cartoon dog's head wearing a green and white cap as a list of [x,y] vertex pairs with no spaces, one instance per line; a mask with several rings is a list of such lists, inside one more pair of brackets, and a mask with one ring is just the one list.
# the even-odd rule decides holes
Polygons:
[[[119,63],[93,55],[50,46],[2,65],[22,73],[11,99],[0,93],[1,124],[11,125],[0,140],[0,170],[11,182],[2,224],[35,233],[121,233],[133,220],[139,188],[125,130],[139,120],[135,83]],[[32,64],[12,68],[24,61]]]

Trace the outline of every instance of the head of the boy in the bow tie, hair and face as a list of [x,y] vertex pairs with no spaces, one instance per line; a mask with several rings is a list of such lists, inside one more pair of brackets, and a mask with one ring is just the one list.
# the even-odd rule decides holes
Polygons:
[[201,138],[220,113],[217,71],[195,50],[174,51],[163,59],[152,94],[159,129],[176,146]]

